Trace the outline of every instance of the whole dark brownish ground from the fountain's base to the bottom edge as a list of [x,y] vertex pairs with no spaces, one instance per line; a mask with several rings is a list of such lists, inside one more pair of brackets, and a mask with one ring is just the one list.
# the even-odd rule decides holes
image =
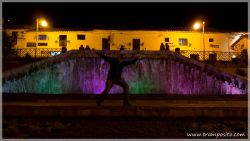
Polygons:
[[[120,98],[121,95],[110,95],[103,106],[97,107],[93,95],[4,94],[3,137],[196,139],[219,135],[217,138],[247,138],[247,116],[239,113],[236,118],[225,116],[228,113],[237,115],[238,110],[234,111],[234,108],[247,113],[247,96],[141,95],[131,97],[132,107],[123,107]],[[180,111],[171,112],[171,108]],[[14,116],[6,114],[6,110],[13,109]],[[170,112],[166,112],[169,109]],[[219,110],[214,112],[216,109]],[[137,114],[129,112],[133,110]],[[79,114],[81,112],[84,114]],[[162,116],[164,112],[166,114]],[[72,113],[74,116],[63,116]]]

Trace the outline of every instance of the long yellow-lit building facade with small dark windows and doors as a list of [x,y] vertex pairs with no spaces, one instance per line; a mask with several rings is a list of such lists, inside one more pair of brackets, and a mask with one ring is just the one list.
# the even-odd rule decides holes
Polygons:
[[[126,50],[160,50],[160,44],[168,44],[169,49],[174,51],[196,52],[240,52],[248,48],[247,33],[220,33],[198,31],[149,31],[149,30],[42,30],[7,29],[9,36],[16,36],[15,49],[37,51],[37,57],[41,56],[42,50],[51,51],[78,50],[82,45],[87,45],[96,50],[119,50],[124,46]],[[38,40],[36,40],[38,35]],[[237,44],[236,44],[237,43]],[[236,48],[235,46],[240,46]],[[50,51],[49,51],[50,52]],[[20,54],[23,56],[24,53]],[[30,54],[34,56],[34,54]]]

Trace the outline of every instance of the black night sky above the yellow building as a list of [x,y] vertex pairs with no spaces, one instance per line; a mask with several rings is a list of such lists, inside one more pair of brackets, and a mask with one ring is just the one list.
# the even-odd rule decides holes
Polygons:
[[[3,18],[16,25],[35,24],[40,16],[50,26],[190,27],[204,19],[207,28],[247,31],[245,3],[4,3]],[[4,23],[6,24],[6,22]]]

